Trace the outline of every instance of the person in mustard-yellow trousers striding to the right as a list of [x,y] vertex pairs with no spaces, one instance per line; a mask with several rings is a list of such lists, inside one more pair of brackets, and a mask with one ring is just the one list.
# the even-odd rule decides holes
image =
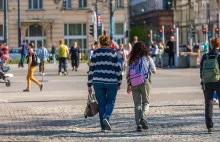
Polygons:
[[25,90],[23,90],[24,92],[30,91],[31,81],[33,81],[34,83],[36,83],[39,86],[40,91],[42,91],[42,89],[43,89],[43,84],[34,78],[34,72],[35,72],[35,69],[36,69],[36,66],[38,65],[38,63],[37,63],[37,55],[34,52],[33,48],[34,48],[33,43],[29,43],[28,73],[27,73],[27,78],[26,78],[27,79],[27,88]]

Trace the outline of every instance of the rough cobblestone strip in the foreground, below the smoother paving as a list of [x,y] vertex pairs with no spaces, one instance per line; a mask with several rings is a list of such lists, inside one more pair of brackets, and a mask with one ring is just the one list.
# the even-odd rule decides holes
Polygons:
[[220,113],[215,106],[215,133],[207,134],[203,101],[154,102],[149,130],[135,132],[132,104],[117,104],[113,131],[99,132],[98,117],[83,118],[82,105],[14,106],[0,104],[1,141],[219,141]]

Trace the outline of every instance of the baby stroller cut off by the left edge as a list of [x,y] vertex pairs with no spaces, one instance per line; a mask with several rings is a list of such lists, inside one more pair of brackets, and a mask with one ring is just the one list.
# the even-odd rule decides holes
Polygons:
[[8,61],[9,59],[4,57],[4,55],[0,58],[0,79],[3,80],[1,83],[5,83],[6,87],[11,86],[9,78],[14,76],[13,74],[8,73],[11,70],[11,68],[7,66]]

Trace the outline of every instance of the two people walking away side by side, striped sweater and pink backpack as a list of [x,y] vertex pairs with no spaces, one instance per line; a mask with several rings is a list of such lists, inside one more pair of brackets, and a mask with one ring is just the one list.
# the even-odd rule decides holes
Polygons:
[[[99,106],[101,131],[111,130],[110,117],[114,109],[116,96],[122,83],[123,61],[125,50],[112,49],[108,36],[99,38],[100,47],[93,50],[89,61],[88,91],[95,92]],[[149,49],[144,42],[135,41],[126,56],[127,92],[132,93],[135,104],[135,121],[137,131],[148,129],[150,76],[156,73],[155,64],[150,57]],[[93,87],[93,89],[92,89]]]

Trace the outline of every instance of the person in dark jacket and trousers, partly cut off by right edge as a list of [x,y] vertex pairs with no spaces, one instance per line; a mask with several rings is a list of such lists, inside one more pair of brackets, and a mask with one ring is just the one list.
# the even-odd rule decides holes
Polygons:
[[[220,47],[220,38],[214,38],[211,40],[211,44],[212,44],[212,50],[209,53],[206,53],[203,55],[201,63],[200,63],[200,78],[202,80],[202,89],[203,89],[203,93],[204,93],[204,97],[205,97],[205,119],[206,119],[206,127],[208,129],[208,133],[213,133],[213,122],[212,122],[212,109],[213,109],[213,94],[214,91],[216,91],[216,93],[218,94],[218,98],[220,97],[220,81],[219,80],[219,73],[220,73],[220,53],[219,53],[219,47]],[[214,74],[216,74],[216,78],[214,78],[215,82],[208,82],[208,83],[204,83],[205,81],[205,74],[207,71],[205,71],[205,69],[207,69],[207,67],[205,67],[204,65],[206,64],[206,66],[208,66],[208,64],[206,63],[208,59],[217,59],[218,61],[218,66],[217,69],[218,73],[215,73],[214,69],[213,72]],[[210,60],[209,60],[210,61]],[[214,68],[214,67],[213,67]],[[211,78],[211,77],[210,77]],[[206,81],[207,82],[207,81]]]

